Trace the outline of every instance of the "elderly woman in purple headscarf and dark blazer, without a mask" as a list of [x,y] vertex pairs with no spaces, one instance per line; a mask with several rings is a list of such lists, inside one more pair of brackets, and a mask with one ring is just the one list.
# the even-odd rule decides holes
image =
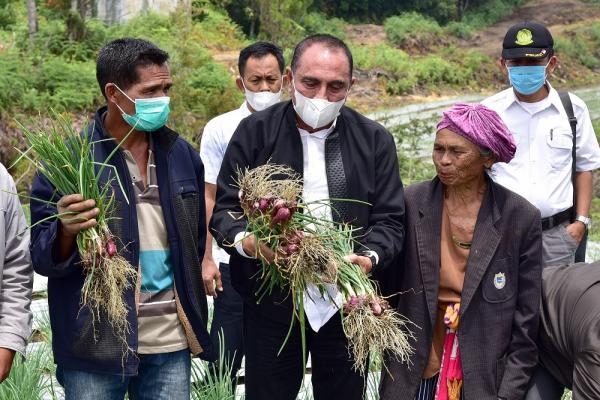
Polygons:
[[381,399],[522,399],[536,365],[542,245],[539,211],[487,175],[515,153],[498,114],[480,104],[443,113],[437,176],[406,188],[398,311],[415,354],[389,358]]

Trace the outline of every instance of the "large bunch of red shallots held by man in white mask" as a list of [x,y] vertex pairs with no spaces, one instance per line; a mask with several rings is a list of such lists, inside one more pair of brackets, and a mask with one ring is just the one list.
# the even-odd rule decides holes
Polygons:
[[[266,244],[280,255],[273,263],[262,263],[259,298],[275,287],[289,288],[296,319],[304,328],[307,287],[333,283],[344,298],[340,312],[354,367],[364,374],[369,355],[384,352],[408,362],[413,351],[408,321],[390,309],[358,265],[344,259],[354,251],[354,229],[314,216],[301,201],[302,180],[291,168],[265,164],[240,172],[237,183],[246,230],[254,234],[257,251]],[[327,201],[319,203],[329,207]],[[325,295],[326,290],[321,292]]]

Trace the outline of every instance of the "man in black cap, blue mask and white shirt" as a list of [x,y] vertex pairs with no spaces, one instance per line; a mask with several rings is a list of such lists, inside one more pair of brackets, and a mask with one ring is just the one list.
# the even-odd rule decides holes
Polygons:
[[494,164],[492,179],[540,210],[544,265],[573,263],[591,223],[592,171],[600,167],[600,148],[587,106],[570,94],[577,118],[573,163],[569,119],[559,93],[548,82],[557,65],[548,29],[531,21],[511,26],[500,64],[512,87],[482,103],[500,114],[515,138],[517,153],[509,163]]

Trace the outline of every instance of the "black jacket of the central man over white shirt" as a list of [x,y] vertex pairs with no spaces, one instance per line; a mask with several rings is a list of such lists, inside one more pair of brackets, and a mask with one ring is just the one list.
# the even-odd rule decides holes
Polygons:
[[[302,175],[302,142],[295,117],[292,102],[288,101],[242,120],[229,142],[217,179],[210,227],[219,245],[231,254],[234,288],[252,302],[256,302],[260,265],[231,246],[235,235],[246,230],[246,220],[232,216],[232,212],[242,211],[235,177],[239,169],[267,162],[288,165]],[[392,260],[399,254],[404,236],[404,198],[394,139],[380,124],[347,107],[342,107],[335,129],[340,136],[347,197],[370,204],[347,203],[346,222],[360,228],[360,243],[377,252],[378,268],[396,265]],[[262,303],[273,306],[271,316],[289,321],[291,301],[285,291],[273,293]]]

